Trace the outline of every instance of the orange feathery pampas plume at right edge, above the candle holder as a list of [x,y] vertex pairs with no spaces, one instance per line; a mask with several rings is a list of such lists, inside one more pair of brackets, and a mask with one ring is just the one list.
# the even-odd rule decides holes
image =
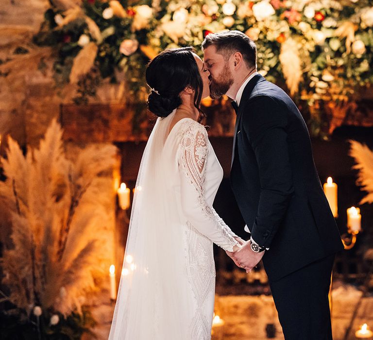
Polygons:
[[373,151],[356,140],[350,140],[350,144],[350,156],[355,158],[356,162],[353,169],[359,170],[356,184],[368,192],[360,204],[373,203]]

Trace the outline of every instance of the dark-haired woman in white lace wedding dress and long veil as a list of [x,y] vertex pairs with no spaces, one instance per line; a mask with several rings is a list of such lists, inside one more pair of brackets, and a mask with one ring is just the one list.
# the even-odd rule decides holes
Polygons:
[[212,207],[223,170],[200,121],[208,71],[190,47],[150,62],[149,110],[158,117],[136,182],[109,340],[211,338],[213,242],[242,240]]

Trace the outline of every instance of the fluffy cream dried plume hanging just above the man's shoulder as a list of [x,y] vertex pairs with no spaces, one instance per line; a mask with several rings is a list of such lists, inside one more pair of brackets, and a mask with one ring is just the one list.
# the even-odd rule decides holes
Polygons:
[[290,94],[293,95],[298,92],[298,86],[302,79],[301,59],[297,42],[294,39],[288,38],[281,45],[279,59],[286,79],[286,85],[290,90]]

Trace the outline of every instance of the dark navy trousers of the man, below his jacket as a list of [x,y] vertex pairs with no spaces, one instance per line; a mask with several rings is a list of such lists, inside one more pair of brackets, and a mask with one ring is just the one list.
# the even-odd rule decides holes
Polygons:
[[270,281],[285,340],[332,340],[328,293],[335,255]]

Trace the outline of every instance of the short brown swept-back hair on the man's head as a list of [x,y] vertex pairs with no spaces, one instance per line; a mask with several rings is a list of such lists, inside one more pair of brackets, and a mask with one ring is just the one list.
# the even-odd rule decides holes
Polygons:
[[239,31],[207,34],[203,40],[202,49],[212,45],[224,59],[228,59],[235,52],[240,52],[246,65],[249,68],[256,68],[256,46],[246,34]]

